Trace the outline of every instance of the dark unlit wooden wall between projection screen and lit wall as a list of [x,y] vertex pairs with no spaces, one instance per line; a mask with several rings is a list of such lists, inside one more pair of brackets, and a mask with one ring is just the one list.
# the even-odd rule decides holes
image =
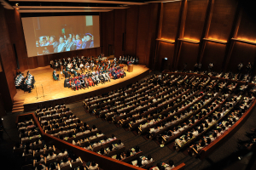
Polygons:
[[138,56],[139,63],[149,66],[155,48],[158,3],[132,5],[102,13],[102,52]]

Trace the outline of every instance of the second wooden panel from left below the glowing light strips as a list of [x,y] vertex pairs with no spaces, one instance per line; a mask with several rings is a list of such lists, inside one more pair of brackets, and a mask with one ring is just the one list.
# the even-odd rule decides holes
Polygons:
[[181,43],[180,54],[177,59],[177,70],[183,70],[184,63],[187,63],[187,70],[193,70],[197,60],[199,44],[189,42]]

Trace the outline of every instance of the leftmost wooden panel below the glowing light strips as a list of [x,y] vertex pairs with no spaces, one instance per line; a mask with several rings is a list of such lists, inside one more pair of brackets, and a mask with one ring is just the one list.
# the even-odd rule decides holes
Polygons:
[[156,60],[156,69],[160,70],[160,66],[162,65],[162,59],[167,58],[165,62],[167,70],[171,69],[172,66],[172,61],[173,61],[173,54],[174,54],[174,44],[172,43],[167,43],[167,42],[160,42],[160,48],[159,48],[159,53],[158,57]]

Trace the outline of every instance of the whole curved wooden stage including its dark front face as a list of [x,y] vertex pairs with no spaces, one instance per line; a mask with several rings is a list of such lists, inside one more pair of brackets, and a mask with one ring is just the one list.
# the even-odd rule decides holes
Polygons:
[[[132,72],[127,71],[127,65],[124,68],[126,72],[126,77],[124,78],[112,79],[111,82],[77,91],[73,91],[71,88],[64,88],[65,78],[63,76],[63,79],[61,79],[60,71],[56,72],[60,75],[61,81],[55,81],[52,77],[53,69],[50,66],[26,70],[30,71],[32,76],[35,77],[35,87],[32,89],[32,93],[24,93],[23,90],[18,89],[14,100],[24,100],[24,111],[35,111],[38,105],[69,104],[90,96],[107,93],[110,90],[123,88],[138,79],[148,76],[149,73],[149,69],[145,65],[133,65]],[[24,71],[25,74],[26,71]]]

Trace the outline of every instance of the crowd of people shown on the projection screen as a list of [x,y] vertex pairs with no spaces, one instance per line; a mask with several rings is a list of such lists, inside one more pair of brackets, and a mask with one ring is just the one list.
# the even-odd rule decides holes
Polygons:
[[55,36],[39,37],[39,41],[36,42],[37,47],[45,47],[43,54],[49,54],[49,48],[47,46],[53,46],[54,53],[61,53],[65,51],[73,51],[84,48],[94,48],[93,36],[90,33],[81,34],[69,34],[69,37],[65,35],[60,36],[59,40]]

